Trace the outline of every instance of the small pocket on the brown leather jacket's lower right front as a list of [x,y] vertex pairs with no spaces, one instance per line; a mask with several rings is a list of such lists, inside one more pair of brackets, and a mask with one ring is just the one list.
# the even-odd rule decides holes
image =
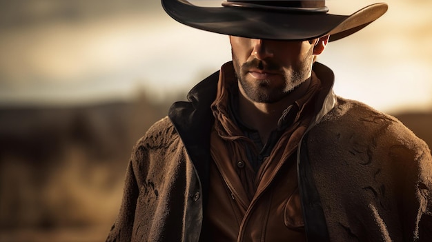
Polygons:
[[286,201],[284,209],[284,223],[286,227],[293,230],[304,228],[302,204],[300,203],[300,194],[296,188]]

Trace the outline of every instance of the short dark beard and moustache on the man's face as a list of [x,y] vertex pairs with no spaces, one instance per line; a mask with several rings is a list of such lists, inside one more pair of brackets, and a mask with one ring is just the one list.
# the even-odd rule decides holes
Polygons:
[[[311,57],[313,57],[312,53],[307,54],[304,60],[293,66],[292,72],[288,73],[281,65],[278,65],[272,60],[262,61],[259,59],[253,59],[240,65],[239,59],[235,56],[233,51],[231,52],[233,55],[234,70],[239,85],[242,86],[248,99],[257,103],[276,103],[277,101],[284,99],[310,76],[312,65]],[[248,81],[246,75],[248,74],[248,70],[251,68],[280,73],[284,82],[275,86],[271,85],[271,79]]]

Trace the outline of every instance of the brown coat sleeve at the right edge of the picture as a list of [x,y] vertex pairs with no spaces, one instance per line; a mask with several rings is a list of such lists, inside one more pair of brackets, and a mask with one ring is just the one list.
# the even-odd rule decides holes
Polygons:
[[[402,123],[395,122],[389,130],[394,139],[389,155],[393,181],[397,184],[404,241],[432,239],[432,157],[428,145]],[[389,143],[391,143],[389,141]]]

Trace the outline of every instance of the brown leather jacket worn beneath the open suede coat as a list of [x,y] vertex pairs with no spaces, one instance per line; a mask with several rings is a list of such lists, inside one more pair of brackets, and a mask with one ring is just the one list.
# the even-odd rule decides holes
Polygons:
[[[313,97],[320,89],[320,79],[313,74],[306,94],[281,114],[273,132],[281,132],[280,139],[266,144],[269,156],[255,172],[246,154],[253,150],[254,156],[259,155],[255,142],[244,136],[236,125],[239,121],[229,112],[228,101],[233,99],[228,95],[237,89],[237,81],[230,78],[234,77],[232,65],[224,65],[221,73],[212,105],[215,129],[210,134],[215,163],[210,165],[209,203],[204,210],[210,237],[213,241],[237,241],[237,237],[239,241],[305,241],[295,152],[313,117]],[[257,192],[257,188],[261,189]]]

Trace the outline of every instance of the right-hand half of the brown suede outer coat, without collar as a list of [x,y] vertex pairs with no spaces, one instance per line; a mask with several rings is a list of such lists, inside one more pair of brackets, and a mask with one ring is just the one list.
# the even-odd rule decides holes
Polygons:
[[338,103],[307,139],[331,241],[431,241],[426,143],[393,117]]

